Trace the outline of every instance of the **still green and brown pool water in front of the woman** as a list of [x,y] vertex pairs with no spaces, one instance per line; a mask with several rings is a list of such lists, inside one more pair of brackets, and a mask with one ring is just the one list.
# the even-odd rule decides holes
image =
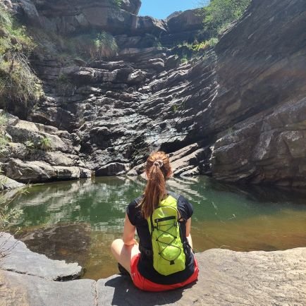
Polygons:
[[[117,273],[111,241],[121,237],[126,206],[144,186],[144,180],[126,177],[35,185],[12,203],[24,212],[18,238],[52,259],[78,262],[85,278],[108,277]],[[306,247],[305,190],[241,189],[204,176],[173,178],[168,188],[194,206],[195,252]]]

